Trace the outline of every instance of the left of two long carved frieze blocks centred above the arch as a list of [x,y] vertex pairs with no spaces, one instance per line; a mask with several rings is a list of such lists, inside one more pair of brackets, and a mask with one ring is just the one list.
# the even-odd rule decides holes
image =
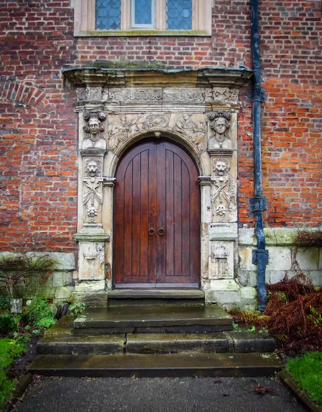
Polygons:
[[130,88],[130,89],[105,89],[103,99],[108,103],[120,102],[160,102],[162,89],[159,88]]

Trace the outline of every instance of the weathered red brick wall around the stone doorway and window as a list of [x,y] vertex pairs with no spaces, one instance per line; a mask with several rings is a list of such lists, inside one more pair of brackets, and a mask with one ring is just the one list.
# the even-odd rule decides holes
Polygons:
[[[73,38],[70,1],[0,1],[0,249],[74,251],[76,114],[61,69],[95,59],[251,67],[249,1],[216,0],[211,38]],[[321,222],[321,3],[260,1],[267,225]],[[320,43],[319,43],[320,42]],[[239,220],[253,225],[251,103],[241,93]]]

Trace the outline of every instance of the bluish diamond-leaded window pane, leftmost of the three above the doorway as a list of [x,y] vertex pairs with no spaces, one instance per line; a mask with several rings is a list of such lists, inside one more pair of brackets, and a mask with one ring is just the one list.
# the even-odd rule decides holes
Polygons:
[[96,0],[96,30],[121,28],[121,0]]

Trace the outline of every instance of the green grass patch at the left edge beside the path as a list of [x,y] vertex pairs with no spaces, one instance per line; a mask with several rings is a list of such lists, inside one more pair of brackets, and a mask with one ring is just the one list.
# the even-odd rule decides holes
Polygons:
[[10,399],[16,385],[16,380],[9,378],[8,369],[14,359],[25,352],[26,343],[26,338],[0,339],[0,407]]

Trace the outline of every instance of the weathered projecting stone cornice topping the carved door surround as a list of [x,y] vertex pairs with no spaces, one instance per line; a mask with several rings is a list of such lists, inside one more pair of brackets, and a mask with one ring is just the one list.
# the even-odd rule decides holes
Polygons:
[[62,74],[76,87],[244,87],[253,71],[205,67],[196,70],[76,67]]

